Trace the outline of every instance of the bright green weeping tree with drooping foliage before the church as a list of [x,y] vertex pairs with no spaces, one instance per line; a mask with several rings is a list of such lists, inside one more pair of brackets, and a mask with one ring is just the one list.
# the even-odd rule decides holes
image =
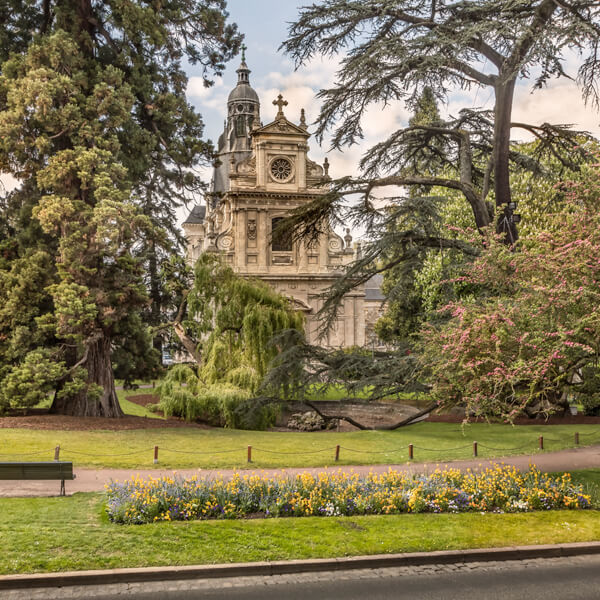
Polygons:
[[272,403],[256,396],[274,341],[288,330],[304,331],[304,317],[286,297],[255,279],[234,273],[216,254],[203,254],[194,269],[187,315],[173,324],[195,361],[172,368],[158,388],[165,414],[226,427],[270,424]]

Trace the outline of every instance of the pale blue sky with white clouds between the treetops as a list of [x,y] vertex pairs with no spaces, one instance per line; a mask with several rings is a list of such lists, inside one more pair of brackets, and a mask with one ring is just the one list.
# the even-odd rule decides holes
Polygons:
[[[237,23],[245,35],[248,47],[246,62],[252,71],[250,83],[260,98],[261,119],[264,124],[275,117],[276,107],[272,101],[279,93],[289,103],[285,114],[290,121],[298,122],[300,109],[304,108],[307,121],[311,123],[319,111],[316,93],[331,86],[335,80],[335,60],[316,58],[296,71],[290,58],[278,50],[286,39],[288,24],[297,17],[298,8],[306,4],[306,0],[229,0],[227,3],[230,20]],[[223,131],[227,96],[236,84],[235,71],[239,64],[240,58],[234,58],[227,65],[224,76],[217,78],[211,88],[203,86],[199,69],[188,70],[188,100],[203,115],[206,136],[213,141]],[[575,75],[576,58],[570,57],[565,62],[565,67],[567,72]],[[490,100],[491,95],[487,90],[458,92],[451,94],[447,105],[440,108],[442,115],[456,115],[462,107],[482,107]],[[365,116],[365,139],[362,144],[346,149],[343,153],[327,153],[327,140],[320,148],[313,139],[309,140],[309,155],[319,163],[327,155],[333,177],[356,173],[362,153],[374,143],[385,139],[391,131],[405,126],[409,117],[409,111],[401,103],[392,104],[385,110],[375,106]],[[567,79],[553,80],[547,88],[535,93],[531,91],[531,82],[519,84],[513,119],[534,124],[569,123],[600,137],[600,114],[584,105],[576,84]],[[517,135],[522,136],[515,132],[515,137]],[[209,179],[210,173],[207,172],[206,177]],[[184,213],[185,211],[182,213],[182,220],[186,216]]]

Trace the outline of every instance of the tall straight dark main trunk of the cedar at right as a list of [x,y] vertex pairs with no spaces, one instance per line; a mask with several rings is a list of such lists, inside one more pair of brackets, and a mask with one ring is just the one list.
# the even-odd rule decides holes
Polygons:
[[499,80],[496,85],[493,148],[494,191],[496,207],[500,209],[496,215],[496,231],[503,234],[505,243],[510,245],[514,244],[519,237],[517,227],[511,219],[512,211],[508,208],[511,201],[509,153],[515,76],[511,74],[507,80],[503,74],[500,74]]

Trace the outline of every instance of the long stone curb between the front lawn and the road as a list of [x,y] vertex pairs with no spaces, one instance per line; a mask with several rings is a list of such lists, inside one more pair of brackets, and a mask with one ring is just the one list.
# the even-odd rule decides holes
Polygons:
[[440,550],[405,554],[378,554],[344,558],[323,558],[274,562],[196,565],[180,567],[149,567],[136,569],[107,569],[71,571],[66,573],[36,573],[31,575],[0,576],[0,590],[28,588],[57,588],[76,585],[107,585],[181,579],[216,579],[348,571],[354,569],[383,569],[432,564],[456,564],[533,558],[556,558],[585,554],[600,554],[600,542],[573,544],[480,548],[469,550]]

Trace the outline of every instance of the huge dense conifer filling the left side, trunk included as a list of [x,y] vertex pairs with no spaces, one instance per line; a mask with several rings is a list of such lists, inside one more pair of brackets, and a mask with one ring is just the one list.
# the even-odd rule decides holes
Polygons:
[[158,364],[144,271],[174,246],[165,195],[211,154],[182,62],[210,84],[241,37],[223,0],[1,10],[0,171],[19,186],[0,219],[0,406],[54,392],[57,412],[119,416],[111,356]]

